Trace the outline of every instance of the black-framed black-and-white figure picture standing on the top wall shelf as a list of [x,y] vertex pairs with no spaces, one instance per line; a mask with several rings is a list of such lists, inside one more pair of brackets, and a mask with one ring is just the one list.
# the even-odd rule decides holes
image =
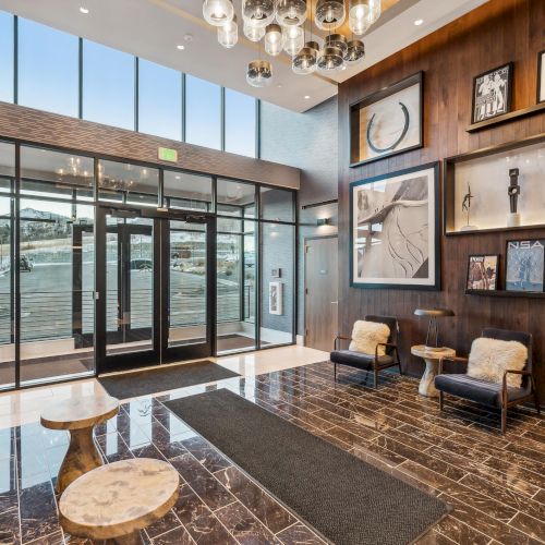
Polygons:
[[513,63],[508,62],[473,78],[472,123],[511,111],[512,72]]

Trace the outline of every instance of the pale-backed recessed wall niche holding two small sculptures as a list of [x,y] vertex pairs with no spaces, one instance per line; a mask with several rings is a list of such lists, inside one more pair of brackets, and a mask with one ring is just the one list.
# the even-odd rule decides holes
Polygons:
[[[544,110],[545,111],[545,110]],[[519,169],[518,213],[522,225],[507,227],[509,170]],[[475,235],[545,229],[545,133],[499,146],[447,157],[443,161],[443,232]],[[462,203],[471,187],[470,225]]]

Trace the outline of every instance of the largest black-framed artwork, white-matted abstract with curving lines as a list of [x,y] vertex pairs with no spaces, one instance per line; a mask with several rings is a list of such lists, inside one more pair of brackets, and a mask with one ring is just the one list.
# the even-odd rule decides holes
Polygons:
[[350,184],[350,284],[438,290],[439,162]]

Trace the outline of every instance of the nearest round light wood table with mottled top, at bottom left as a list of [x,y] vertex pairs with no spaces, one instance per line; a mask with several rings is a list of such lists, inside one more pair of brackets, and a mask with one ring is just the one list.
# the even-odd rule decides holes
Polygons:
[[69,534],[141,544],[140,531],[175,504],[180,477],[167,462],[136,458],[109,463],[74,481],[59,501],[59,520]]

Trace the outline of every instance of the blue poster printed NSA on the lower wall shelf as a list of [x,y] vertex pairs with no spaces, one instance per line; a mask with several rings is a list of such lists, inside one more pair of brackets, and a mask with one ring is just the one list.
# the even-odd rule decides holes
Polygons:
[[507,241],[506,290],[544,291],[545,239]]

